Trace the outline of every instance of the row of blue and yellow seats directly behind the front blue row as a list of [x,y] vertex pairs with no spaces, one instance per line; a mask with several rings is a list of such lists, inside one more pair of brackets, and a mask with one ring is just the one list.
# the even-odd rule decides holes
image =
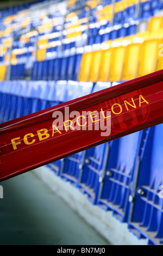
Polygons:
[[113,82],[127,81],[149,74],[163,68],[160,39],[162,36],[160,30],[158,38],[154,35],[154,39],[146,33],[138,33],[120,40],[105,42],[101,50],[87,51],[83,54],[82,48],[80,51],[64,51],[55,58],[35,62],[32,80]]

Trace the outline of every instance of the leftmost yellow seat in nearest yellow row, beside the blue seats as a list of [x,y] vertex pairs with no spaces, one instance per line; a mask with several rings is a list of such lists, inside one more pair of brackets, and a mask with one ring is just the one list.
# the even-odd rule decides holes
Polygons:
[[93,56],[92,52],[83,53],[81,63],[80,63],[78,81],[83,81],[83,82],[89,81],[91,64],[92,64],[92,56]]

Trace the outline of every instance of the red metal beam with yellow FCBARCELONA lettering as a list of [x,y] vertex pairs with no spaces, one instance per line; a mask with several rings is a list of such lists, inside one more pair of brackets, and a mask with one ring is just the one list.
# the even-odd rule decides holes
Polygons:
[[[160,70],[1,124],[0,180],[162,123],[162,78]],[[70,117],[65,107],[79,115]],[[58,126],[55,111],[63,113]],[[109,120],[110,135],[102,136],[97,124],[109,131]]]

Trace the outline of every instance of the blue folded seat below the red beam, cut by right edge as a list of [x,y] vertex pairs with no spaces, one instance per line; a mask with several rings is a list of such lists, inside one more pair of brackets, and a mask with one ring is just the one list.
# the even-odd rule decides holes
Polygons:
[[[140,167],[134,178],[129,230],[149,245],[163,243],[163,124],[146,132],[140,150]],[[135,186],[135,189],[134,189]],[[131,198],[131,199],[132,199]]]

